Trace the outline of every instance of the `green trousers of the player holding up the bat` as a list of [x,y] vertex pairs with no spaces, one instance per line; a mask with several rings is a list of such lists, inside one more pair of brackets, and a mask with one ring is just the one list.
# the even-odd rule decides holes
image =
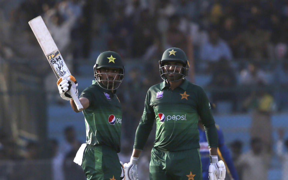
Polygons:
[[106,145],[87,145],[82,161],[82,169],[87,180],[120,180],[122,172],[117,152]]

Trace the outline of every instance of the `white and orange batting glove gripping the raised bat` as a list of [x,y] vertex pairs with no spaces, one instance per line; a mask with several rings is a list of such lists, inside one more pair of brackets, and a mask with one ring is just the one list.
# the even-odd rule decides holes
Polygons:
[[78,89],[76,89],[78,83],[72,75],[70,75],[67,79],[59,78],[57,81],[57,85],[62,99],[67,101],[71,99],[71,94],[69,92],[71,88],[73,88],[74,92],[76,92],[76,95],[78,96]]

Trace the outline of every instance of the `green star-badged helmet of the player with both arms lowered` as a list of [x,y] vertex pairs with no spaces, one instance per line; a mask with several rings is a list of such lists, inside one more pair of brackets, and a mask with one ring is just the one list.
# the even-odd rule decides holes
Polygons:
[[[181,63],[182,66],[164,65],[164,63],[171,61]],[[170,69],[171,71],[168,70],[170,66],[172,67]],[[179,69],[179,67],[180,70],[178,71],[177,69]],[[180,79],[185,78],[188,75],[188,69],[189,61],[187,60],[187,56],[185,52],[179,48],[167,49],[163,53],[162,59],[159,61],[160,75],[165,81],[179,81]]]

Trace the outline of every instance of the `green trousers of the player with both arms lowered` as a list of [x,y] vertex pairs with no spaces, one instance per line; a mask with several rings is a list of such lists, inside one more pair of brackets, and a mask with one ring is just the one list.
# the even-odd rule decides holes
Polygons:
[[170,152],[153,148],[149,171],[150,180],[202,180],[199,149]]

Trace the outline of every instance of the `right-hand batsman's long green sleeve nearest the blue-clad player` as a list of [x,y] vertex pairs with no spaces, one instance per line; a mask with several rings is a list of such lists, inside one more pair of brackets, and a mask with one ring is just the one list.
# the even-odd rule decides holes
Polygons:
[[212,116],[211,106],[208,97],[202,87],[198,90],[198,107],[197,112],[202,120],[205,134],[207,138],[208,147],[217,147],[217,130],[215,127],[215,121]]

